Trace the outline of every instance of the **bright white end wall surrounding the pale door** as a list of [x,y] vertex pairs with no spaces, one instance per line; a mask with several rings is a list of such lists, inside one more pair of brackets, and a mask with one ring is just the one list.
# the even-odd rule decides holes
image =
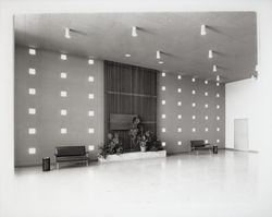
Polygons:
[[260,87],[254,79],[225,85],[225,147],[234,148],[234,119],[248,119],[249,150],[260,149]]

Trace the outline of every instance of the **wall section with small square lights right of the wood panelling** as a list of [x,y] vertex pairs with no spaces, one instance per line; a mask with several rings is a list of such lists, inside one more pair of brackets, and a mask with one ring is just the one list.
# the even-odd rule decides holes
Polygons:
[[158,77],[157,132],[168,153],[190,150],[191,140],[224,147],[224,84],[173,73]]

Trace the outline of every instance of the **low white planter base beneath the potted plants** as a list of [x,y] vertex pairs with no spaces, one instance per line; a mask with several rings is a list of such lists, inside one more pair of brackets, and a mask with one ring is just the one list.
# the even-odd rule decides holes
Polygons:
[[136,152],[136,153],[124,153],[121,155],[109,155],[107,158],[98,158],[99,162],[112,162],[112,161],[125,161],[125,160],[134,160],[134,159],[149,159],[149,158],[158,158],[158,157],[166,157],[166,150],[158,150],[158,152]]

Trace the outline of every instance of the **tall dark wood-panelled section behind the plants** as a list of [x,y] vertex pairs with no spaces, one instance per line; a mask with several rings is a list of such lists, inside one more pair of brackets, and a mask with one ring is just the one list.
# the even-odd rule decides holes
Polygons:
[[132,118],[141,120],[144,131],[157,131],[157,70],[104,61],[106,141],[119,133],[124,152],[132,152]]

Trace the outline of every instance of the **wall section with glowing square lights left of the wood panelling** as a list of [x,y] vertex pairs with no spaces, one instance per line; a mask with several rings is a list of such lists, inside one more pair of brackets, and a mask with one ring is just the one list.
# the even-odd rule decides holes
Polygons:
[[103,142],[103,63],[15,47],[15,166],[39,165],[55,146]]

